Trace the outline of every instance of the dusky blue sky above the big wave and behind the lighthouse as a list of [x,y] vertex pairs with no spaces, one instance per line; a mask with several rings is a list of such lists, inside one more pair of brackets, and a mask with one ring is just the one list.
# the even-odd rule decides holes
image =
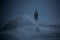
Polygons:
[[2,0],[2,23],[18,15],[33,19],[35,10],[39,23],[60,25],[60,0]]

